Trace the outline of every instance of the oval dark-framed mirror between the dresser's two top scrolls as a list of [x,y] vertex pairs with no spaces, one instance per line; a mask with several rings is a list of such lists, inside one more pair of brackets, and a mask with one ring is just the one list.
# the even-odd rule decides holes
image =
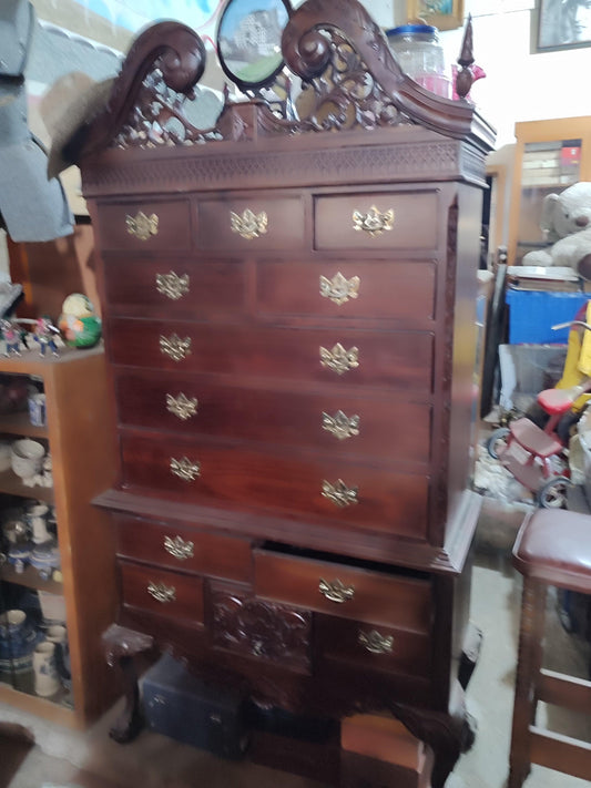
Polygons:
[[269,84],[283,68],[282,34],[288,0],[228,0],[217,25],[217,57],[241,89]]

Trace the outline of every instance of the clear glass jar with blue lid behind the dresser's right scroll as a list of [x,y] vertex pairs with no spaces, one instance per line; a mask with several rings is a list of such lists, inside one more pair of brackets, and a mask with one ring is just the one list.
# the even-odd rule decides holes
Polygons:
[[405,73],[431,93],[449,99],[451,80],[437,33],[430,24],[401,24],[387,30],[386,37]]

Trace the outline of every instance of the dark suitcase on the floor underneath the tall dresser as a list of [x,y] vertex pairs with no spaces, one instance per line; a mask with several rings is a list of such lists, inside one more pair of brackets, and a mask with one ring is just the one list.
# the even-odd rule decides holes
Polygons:
[[145,673],[142,696],[150,730],[222,758],[244,755],[248,736],[242,698],[200,680],[171,654]]

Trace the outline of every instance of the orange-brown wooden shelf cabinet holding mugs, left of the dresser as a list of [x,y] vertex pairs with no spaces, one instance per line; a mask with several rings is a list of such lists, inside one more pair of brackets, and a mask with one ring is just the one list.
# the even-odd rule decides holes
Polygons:
[[[52,487],[28,485],[12,468],[0,472],[0,604],[4,613],[24,610],[27,643],[31,632],[41,643],[50,626],[61,624],[67,627],[68,643],[67,671],[61,676],[67,680],[60,690],[48,697],[35,694],[34,674],[21,658],[12,669],[4,665],[0,700],[64,725],[83,727],[115,696],[100,638],[115,613],[114,543],[105,513],[91,505],[92,498],[112,482],[114,470],[104,352],[102,348],[65,348],[59,357],[40,357],[31,349],[20,357],[0,358],[0,380],[2,398],[14,382],[45,395],[47,426],[33,426],[29,412],[19,409],[0,415],[0,434],[8,443],[21,438],[41,443],[51,456],[53,477]],[[57,536],[58,571],[43,571],[31,563],[31,556],[24,557],[20,566],[10,561],[13,544],[6,526],[11,518],[27,523],[26,505],[35,501],[54,510],[55,534],[51,525],[48,533]],[[31,539],[34,534],[29,532],[22,541],[33,547]],[[30,653],[29,647],[27,651]]]

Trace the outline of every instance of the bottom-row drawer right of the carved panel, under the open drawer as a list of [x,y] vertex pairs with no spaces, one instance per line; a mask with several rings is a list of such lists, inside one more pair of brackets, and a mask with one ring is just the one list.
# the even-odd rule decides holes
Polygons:
[[351,662],[363,671],[429,675],[431,639],[426,632],[324,615],[315,632],[319,653],[328,659]]

